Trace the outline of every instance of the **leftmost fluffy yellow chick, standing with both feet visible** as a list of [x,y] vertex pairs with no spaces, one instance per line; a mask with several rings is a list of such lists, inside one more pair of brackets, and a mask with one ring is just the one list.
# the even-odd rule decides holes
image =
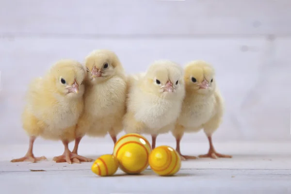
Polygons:
[[83,111],[85,75],[79,62],[61,60],[52,65],[44,77],[32,81],[22,114],[23,129],[30,136],[29,149],[24,157],[11,162],[46,160],[32,153],[33,142],[38,136],[63,142],[64,154],[54,157],[53,161],[71,163],[70,159],[74,158],[88,161],[68,148],[68,143],[75,139],[76,124]]

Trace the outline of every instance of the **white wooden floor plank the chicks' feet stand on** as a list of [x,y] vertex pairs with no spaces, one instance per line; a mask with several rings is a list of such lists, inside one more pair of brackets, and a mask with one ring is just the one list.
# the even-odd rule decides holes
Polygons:
[[[157,146],[167,145],[175,147],[175,141],[157,142]],[[74,144],[70,144],[72,149]],[[291,169],[291,146],[290,142],[224,142],[216,143],[216,150],[233,155],[232,159],[197,159],[182,162],[181,169]],[[48,161],[30,162],[8,162],[12,159],[22,157],[27,151],[28,144],[0,145],[0,172],[20,172],[30,170],[46,171],[72,171],[87,170],[91,168],[92,162],[81,164],[55,163],[54,156],[63,153],[64,146],[59,143],[49,142],[41,144],[36,141],[34,146],[35,156],[46,156]],[[256,147],[256,149],[254,149]],[[200,155],[208,151],[208,143],[185,143],[182,142],[181,150],[187,155]],[[94,144],[81,141],[78,153],[96,160],[103,154],[113,152],[112,142],[99,142]],[[148,168],[150,169],[150,168]]]

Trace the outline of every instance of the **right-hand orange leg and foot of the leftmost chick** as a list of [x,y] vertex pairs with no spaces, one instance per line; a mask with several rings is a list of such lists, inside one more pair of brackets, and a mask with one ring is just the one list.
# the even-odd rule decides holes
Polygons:
[[[65,146],[65,151],[64,151],[63,155],[54,157],[52,159],[54,162],[67,162],[67,163],[71,164],[72,163],[71,159],[73,159],[73,162],[76,162],[76,163],[80,163],[80,161],[82,161],[82,162],[92,162],[92,159],[88,159],[88,158],[85,158],[83,156],[79,156],[76,153],[72,153],[69,150],[69,147],[68,147],[69,142],[68,141],[63,140],[62,142],[63,142],[63,144]],[[77,145],[77,147],[78,147],[78,145]]]

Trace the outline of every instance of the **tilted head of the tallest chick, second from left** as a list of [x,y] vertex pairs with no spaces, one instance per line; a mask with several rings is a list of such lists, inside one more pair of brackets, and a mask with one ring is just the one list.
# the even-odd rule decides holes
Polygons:
[[106,49],[92,51],[85,58],[85,66],[88,72],[88,81],[91,83],[109,80],[124,71],[117,55]]

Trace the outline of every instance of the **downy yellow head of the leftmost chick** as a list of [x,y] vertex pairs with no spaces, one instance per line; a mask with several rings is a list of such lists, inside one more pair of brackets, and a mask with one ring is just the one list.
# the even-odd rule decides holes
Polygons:
[[54,83],[53,90],[65,97],[80,97],[84,93],[83,81],[86,71],[78,61],[60,60],[49,71],[49,80]]

